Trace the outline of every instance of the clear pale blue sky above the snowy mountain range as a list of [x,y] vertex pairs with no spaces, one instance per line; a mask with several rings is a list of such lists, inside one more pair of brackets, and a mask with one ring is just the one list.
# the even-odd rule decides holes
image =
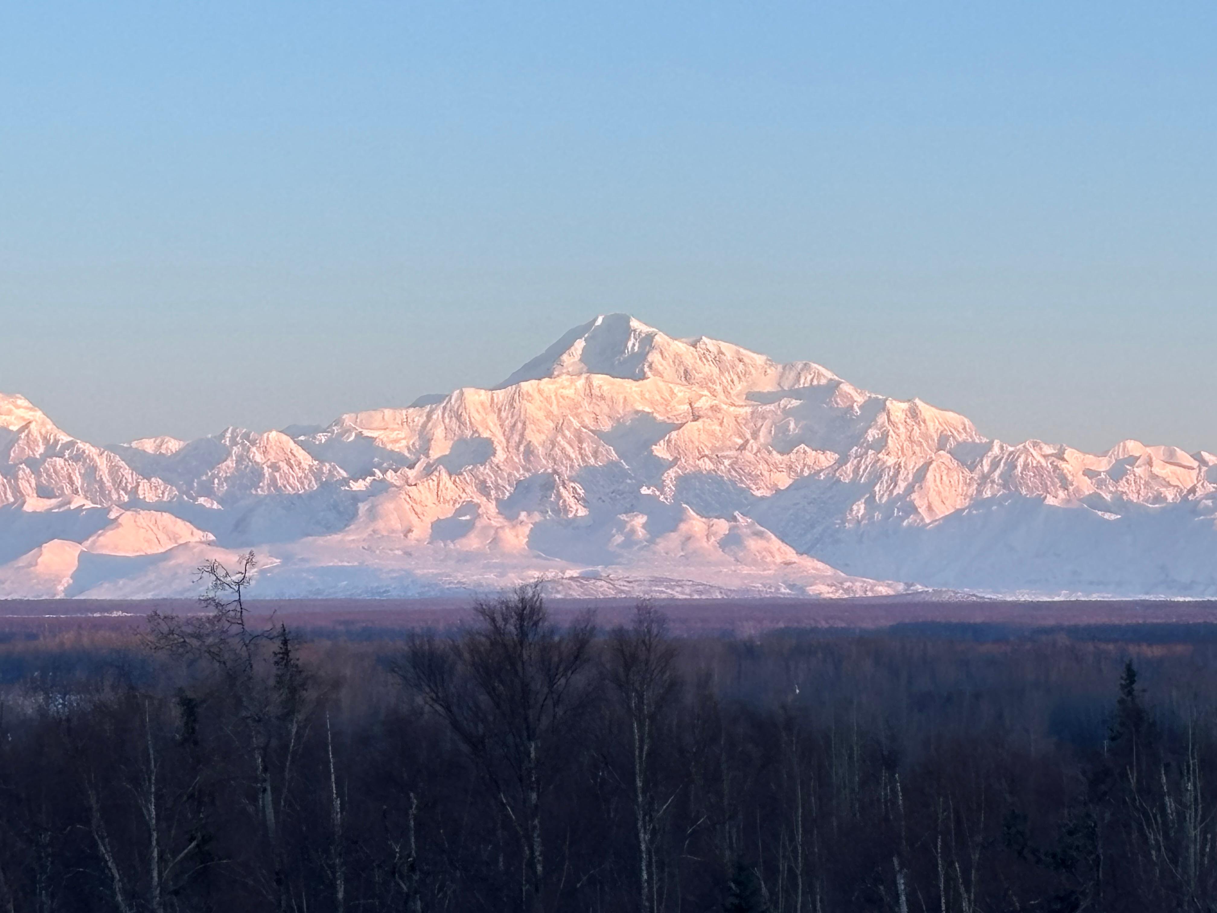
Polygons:
[[0,4],[0,391],[97,443],[626,310],[1217,450],[1217,5]]

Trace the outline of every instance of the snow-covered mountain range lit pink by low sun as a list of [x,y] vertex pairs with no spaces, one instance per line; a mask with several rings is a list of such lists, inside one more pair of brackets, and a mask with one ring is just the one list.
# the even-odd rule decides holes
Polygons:
[[983,437],[818,364],[623,314],[494,390],[100,448],[0,397],[0,595],[190,592],[253,548],[263,595],[494,589],[1217,595],[1217,456]]

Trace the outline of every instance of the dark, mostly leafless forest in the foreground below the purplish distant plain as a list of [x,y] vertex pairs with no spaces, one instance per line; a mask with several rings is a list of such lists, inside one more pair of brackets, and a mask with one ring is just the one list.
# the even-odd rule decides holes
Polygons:
[[1210,911],[1217,643],[299,640],[248,567],[0,645],[0,909]]

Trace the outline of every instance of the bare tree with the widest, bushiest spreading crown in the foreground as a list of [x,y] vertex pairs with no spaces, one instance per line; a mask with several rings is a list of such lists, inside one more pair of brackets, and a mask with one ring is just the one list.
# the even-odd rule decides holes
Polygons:
[[539,583],[473,611],[476,624],[455,639],[414,638],[396,672],[444,719],[497,797],[520,841],[521,909],[539,913],[545,790],[590,695],[594,624],[583,616],[561,631]]

